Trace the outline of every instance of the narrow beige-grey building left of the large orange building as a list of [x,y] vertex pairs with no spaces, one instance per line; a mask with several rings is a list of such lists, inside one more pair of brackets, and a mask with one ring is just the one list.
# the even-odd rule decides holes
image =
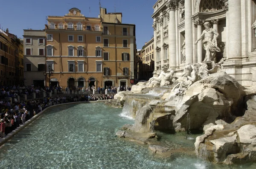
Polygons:
[[24,84],[45,85],[45,31],[24,30],[23,55]]

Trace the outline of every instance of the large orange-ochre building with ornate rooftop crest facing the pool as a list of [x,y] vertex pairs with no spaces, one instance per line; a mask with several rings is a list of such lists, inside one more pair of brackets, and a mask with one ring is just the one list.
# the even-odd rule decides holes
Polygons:
[[85,17],[71,8],[64,16],[48,16],[45,36],[46,69],[54,70],[47,86],[134,84],[135,25],[122,23],[122,13],[100,8],[98,17]]

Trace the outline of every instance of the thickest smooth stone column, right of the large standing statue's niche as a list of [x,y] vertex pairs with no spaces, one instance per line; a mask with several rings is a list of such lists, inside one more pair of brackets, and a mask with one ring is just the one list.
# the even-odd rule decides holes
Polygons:
[[241,58],[241,0],[228,1],[228,59]]

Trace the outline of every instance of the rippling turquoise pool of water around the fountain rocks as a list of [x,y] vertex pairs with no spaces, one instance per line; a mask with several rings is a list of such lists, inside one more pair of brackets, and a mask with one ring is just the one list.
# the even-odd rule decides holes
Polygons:
[[[117,138],[124,124],[122,109],[101,103],[52,107],[0,147],[0,169],[254,169],[255,164],[224,166],[199,160],[195,155],[160,158],[147,145]],[[196,135],[184,133],[159,138],[170,146],[193,148]]]

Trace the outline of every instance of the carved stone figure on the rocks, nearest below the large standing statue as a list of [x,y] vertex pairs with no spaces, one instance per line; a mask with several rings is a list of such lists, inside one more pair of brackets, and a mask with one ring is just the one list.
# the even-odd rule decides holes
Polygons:
[[184,68],[180,82],[175,87],[173,87],[172,91],[174,91],[177,87],[179,87],[179,89],[182,87],[189,88],[189,86],[191,86],[196,81],[198,81],[198,74],[195,70],[195,67],[192,64],[188,64]]

